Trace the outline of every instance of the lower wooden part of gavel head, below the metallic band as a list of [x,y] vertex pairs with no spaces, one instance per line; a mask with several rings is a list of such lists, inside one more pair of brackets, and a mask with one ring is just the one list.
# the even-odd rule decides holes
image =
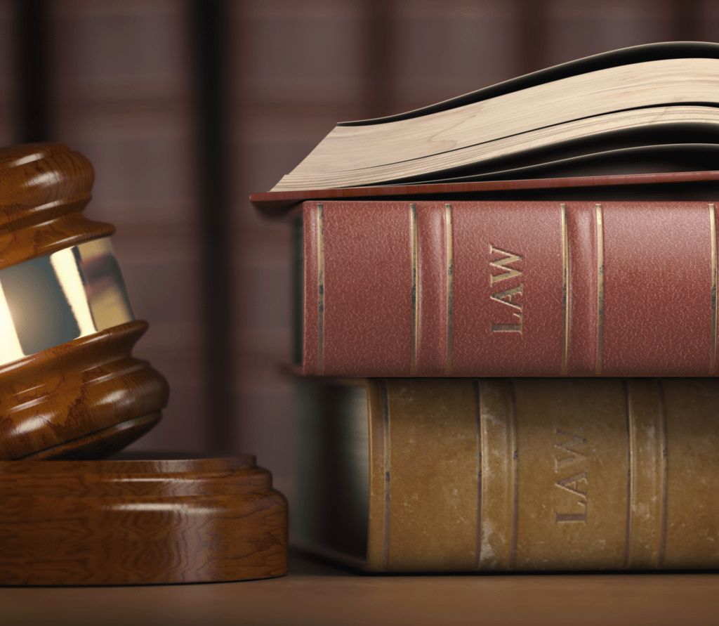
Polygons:
[[168,384],[130,355],[145,330],[127,322],[1,366],[0,459],[103,458],[150,430]]

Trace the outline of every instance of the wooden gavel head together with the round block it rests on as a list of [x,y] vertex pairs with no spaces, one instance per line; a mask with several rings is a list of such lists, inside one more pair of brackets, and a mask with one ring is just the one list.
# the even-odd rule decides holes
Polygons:
[[150,430],[168,384],[132,346],[93,168],[0,150],[0,584],[230,581],[287,571],[287,503],[252,456],[101,461]]

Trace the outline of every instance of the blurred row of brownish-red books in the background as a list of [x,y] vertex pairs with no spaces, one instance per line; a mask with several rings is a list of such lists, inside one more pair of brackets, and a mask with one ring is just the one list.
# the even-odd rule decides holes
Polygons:
[[291,502],[289,229],[248,194],[336,122],[718,27],[698,0],[0,0],[0,143],[95,165],[134,354],[170,381],[133,448],[255,453]]

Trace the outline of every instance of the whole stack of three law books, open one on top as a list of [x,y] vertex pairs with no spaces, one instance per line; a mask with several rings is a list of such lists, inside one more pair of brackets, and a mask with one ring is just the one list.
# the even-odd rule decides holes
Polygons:
[[338,124],[295,228],[296,544],[367,571],[719,566],[719,45]]

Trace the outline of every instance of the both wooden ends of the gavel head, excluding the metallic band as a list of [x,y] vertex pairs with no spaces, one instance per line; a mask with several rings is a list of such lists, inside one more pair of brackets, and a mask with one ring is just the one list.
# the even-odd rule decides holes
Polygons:
[[[0,269],[114,231],[83,216],[95,178],[62,144],[0,149]],[[0,461],[103,458],[160,419],[168,384],[133,358],[127,322],[0,366]]]

